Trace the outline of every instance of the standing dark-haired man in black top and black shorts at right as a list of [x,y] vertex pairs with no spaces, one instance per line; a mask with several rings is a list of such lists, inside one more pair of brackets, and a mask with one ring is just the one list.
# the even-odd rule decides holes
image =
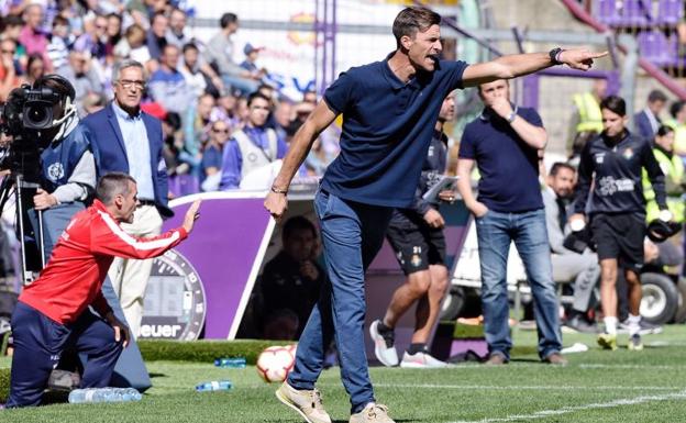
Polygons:
[[653,156],[648,141],[631,134],[624,100],[608,97],[600,103],[605,130],[586,144],[578,172],[578,191],[573,230],[584,226],[588,192],[590,194],[590,227],[598,247],[600,261],[600,302],[605,333],[598,344],[606,349],[617,349],[617,269],[624,269],[629,285],[629,349],[641,350],[639,307],[641,282],[639,271],[643,266],[643,238],[645,236],[645,200],[641,183],[641,168],[645,168],[655,191],[661,219],[671,220],[667,210],[664,175]]

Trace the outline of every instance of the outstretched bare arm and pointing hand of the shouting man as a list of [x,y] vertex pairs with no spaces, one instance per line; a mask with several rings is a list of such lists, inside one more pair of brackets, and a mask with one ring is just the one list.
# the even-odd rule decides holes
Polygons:
[[[587,49],[566,49],[557,56],[558,60],[573,69],[588,70],[594,59],[607,56],[607,52],[593,53]],[[547,53],[513,54],[495,60],[467,66],[463,74],[465,87],[475,87],[497,79],[511,79],[533,74],[555,65]]]

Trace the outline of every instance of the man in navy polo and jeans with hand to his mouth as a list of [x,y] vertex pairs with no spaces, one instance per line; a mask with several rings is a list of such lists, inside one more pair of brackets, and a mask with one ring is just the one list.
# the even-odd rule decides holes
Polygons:
[[[547,134],[539,113],[510,102],[505,79],[479,86],[485,109],[462,134],[457,160],[457,189],[475,215],[482,267],[482,308],[489,358],[501,365],[510,359],[507,257],[510,243],[527,268],[539,333],[539,356],[564,365],[557,297],[551,265],[545,209],[539,183],[539,149]],[[480,174],[478,200],[469,174],[476,162]]]

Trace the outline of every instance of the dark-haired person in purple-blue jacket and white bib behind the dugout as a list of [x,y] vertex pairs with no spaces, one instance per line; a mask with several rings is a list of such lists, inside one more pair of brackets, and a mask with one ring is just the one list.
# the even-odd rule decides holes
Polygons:
[[269,165],[286,154],[286,143],[276,131],[266,127],[269,99],[259,92],[247,99],[248,118],[245,127],[233,133],[224,147],[221,189],[236,189],[251,171]]

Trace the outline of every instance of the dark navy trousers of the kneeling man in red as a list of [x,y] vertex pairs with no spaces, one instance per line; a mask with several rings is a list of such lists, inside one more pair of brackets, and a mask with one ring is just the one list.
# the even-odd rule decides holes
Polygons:
[[19,302],[12,314],[12,375],[7,407],[37,405],[51,371],[62,353],[74,348],[88,356],[80,388],[101,388],[110,383],[121,342],[114,330],[86,309],[76,322],[62,325],[40,311]]

